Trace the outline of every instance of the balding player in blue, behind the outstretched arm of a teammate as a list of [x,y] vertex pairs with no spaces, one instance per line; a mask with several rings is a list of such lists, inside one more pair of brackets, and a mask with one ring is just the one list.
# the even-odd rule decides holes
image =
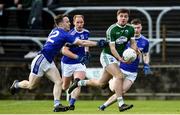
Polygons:
[[[73,17],[74,28],[69,31],[69,33],[76,38],[82,40],[88,40],[89,31],[84,27],[84,16],[75,15]],[[85,57],[86,61],[89,61],[89,47],[75,46],[66,47],[62,49],[63,57],[61,59],[61,70],[63,79],[63,90],[67,90],[72,81],[76,79],[85,79],[86,77],[86,65],[77,60],[77,57]],[[75,102],[80,94],[81,88],[78,87],[71,93],[71,98],[69,101],[69,109],[75,109]]]

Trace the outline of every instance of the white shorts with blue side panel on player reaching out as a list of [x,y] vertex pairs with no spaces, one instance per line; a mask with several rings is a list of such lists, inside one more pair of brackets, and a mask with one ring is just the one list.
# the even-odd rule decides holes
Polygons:
[[39,54],[33,59],[31,63],[31,74],[42,77],[47,70],[54,66],[54,62],[49,63],[43,54]]

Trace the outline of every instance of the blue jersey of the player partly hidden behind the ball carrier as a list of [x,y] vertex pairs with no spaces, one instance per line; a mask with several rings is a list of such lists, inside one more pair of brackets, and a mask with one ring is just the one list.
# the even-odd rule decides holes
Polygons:
[[[139,38],[136,38],[137,47],[140,49],[142,53],[147,53],[149,51],[149,41],[146,37],[141,35]],[[130,47],[130,43],[127,44],[127,48]],[[129,72],[137,72],[139,65],[139,57],[137,56],[136,60],[130,64],[122,63],[120,64],[120,68],[129,71]]]

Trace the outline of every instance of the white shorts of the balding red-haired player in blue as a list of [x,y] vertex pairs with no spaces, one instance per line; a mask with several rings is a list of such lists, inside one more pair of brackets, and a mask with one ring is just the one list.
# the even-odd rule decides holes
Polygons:
[[84,71],[86,72],[86,65],[78,63],[78,64],[65,64],[61,62],[61,70],[62,76],[64,77],[71,77],[74,72],[76,71]]

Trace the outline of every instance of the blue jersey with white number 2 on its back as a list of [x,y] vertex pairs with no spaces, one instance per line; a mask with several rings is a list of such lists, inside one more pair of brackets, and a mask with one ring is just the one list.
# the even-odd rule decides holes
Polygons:
[[44,57],[51,63],[66,42],[74,43],[75,37],[61,28],[54,28],[41,50]]

